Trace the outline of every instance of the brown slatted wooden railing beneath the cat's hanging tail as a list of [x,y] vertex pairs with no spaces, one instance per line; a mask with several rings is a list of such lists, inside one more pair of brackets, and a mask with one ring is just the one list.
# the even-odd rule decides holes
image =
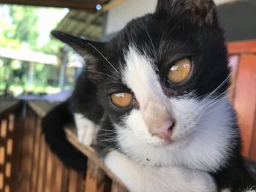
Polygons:
[[0,192],[127,191],[92,147],[80,145],[73,128],[69,141],[88,157],[87,170],[68,169],[50,152],[40,128],[56,104],[0,100]]

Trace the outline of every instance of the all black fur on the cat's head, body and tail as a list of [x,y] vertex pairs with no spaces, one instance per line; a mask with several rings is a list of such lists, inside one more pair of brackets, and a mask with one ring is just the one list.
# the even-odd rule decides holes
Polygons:
[[[130,91],[123,85],[121,74],[113,69],[120,72],[124,67],[120,64],[124,65],[124,53],[129,45],[135,45],[141,54],[154,61],[162,87],[170,97],[182,98],[193,91],[198,99],[203,99],[230,74],[225,39],[212,0],[159,0],[156,12],[132,20],[110,42],[91,42],[58,31],[54,31],[53,36],[72,46],[88,65],[80,75],[71,99],[53,109],[42,123],[51,150],[74,169],[84,169],[86,161],[65,139],[62,127],[69,123],[67,119],[72,119],[72,113],[78,112],[95,123],[102,123],[105,131],[99,131],[95,147],[104,157],[110,147],[117,149],[118,146],[102,139],[101,135],[113,130],[113,123],[121,123],[121,118],[132,107],[138,107],[134,104],[116,109],[109,98],[110,93]],[[194,69],[191,77],[178,84],[169,82],[165,72],[174,61],[184,57],[192,58]],[[228,84],[227,81],[212,97],[227,91]],[[238,129],[236,122],[233,128]],[[230,151],[227,164],[211,173],[219,191],[223,188],[244,191],[256,185],[245,169],[239,136],[233,144],[235,147]]]

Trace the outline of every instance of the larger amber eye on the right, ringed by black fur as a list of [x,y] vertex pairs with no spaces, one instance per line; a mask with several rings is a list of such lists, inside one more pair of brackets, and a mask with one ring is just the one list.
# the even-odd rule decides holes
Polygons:
[[189,77],[191,72],[192,62],[189,58],[183,58],[170,68],[170,71],[167,74],[168,79],[171,82],[182,82]]

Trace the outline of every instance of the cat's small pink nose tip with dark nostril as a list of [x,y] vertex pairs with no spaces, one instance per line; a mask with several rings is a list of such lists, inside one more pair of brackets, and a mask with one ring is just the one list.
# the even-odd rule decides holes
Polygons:
[[165,123],[162,123],[162,125],[158,128],[151,129],[151,134],[165,140],[170,140],[174,126],[174,120],[167,120]]

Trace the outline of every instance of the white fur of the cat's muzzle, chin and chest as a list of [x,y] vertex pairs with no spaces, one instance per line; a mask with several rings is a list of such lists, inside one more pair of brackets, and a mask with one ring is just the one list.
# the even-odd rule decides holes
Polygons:
[[[182,105],[186,101],[177,102]],[[186,112],[189,107],[184,105],[184,108],[180,108],[184,112],[176,118],[173,142],[170,143],[152,137],[140,111],[133,110],[125,120],[127,128],[116,127],[119,145],[130,158],[143,164],[185,166],[189,169],[214,171],[225,164],[225,157],[228,156],[230,147],[233,147],[230,143],[236,136],[230,128],[230,105],[224,100],[219,103],[223,104],[226,106],[211,112],[211,115],[201,116],[196,122],[189,118],[189,112]],[[192,108],[191,112],[193,110],[195,108]],[[175,112],[175,115],[178,115],[178,112]],[[179,120],[185,122],[178,124]]]

